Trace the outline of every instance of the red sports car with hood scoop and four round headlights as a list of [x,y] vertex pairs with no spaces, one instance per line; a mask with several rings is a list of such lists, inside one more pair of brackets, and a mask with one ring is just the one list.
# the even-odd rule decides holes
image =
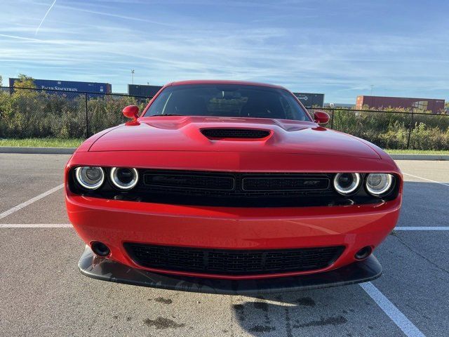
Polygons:
[[403,179],[366,140],[324,128],[281,86],[167,84],[65,169],[84,275],[212,293],[366,282]]

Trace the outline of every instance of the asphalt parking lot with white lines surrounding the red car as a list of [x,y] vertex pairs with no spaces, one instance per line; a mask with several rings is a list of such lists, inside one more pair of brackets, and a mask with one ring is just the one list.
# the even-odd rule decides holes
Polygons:
[[449,161],[398,161],[403,209],[375,251],[380,279],[253,298],[81,275],[67,159],[0,154],[0,336],[448,336]]

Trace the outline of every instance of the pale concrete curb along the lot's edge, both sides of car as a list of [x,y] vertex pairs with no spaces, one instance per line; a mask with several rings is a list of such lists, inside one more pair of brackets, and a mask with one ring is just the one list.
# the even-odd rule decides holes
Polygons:
[[[73,154],[76,147],[6,147],[0,153],[20,154]],[[390,154],[394,160],[449,160],[449,154]]]

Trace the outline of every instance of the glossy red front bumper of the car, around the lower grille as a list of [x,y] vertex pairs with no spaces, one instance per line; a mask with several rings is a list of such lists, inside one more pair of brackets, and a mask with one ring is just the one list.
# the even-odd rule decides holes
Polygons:
[[[355,263],[359,249],[375,249],[394,228],[401,198],[369,205],[246,209],[96,199],[67,191],[66,204],[79,236],[86,244],[106,244],[110,260],[148,272],[236,280],[293,277]],[[236,276],[142,267],[128,255],[125,242],[258,250],[344,246],[344,251],[320,270]]]

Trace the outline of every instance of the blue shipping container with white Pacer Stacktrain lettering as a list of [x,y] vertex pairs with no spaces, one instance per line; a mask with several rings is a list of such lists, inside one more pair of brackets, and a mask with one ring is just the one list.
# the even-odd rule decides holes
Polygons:
[[[9,79],[10,88],[14,87],[18,79]],[[48,90],[49,93],[69,94],[76,93],[112,93],[112,86],[109,83],[79,82],[79,81],[58,81],[53,79],[33,79],[34,85],[38,89]],[[91,95],[90,95],[91,96]]]

